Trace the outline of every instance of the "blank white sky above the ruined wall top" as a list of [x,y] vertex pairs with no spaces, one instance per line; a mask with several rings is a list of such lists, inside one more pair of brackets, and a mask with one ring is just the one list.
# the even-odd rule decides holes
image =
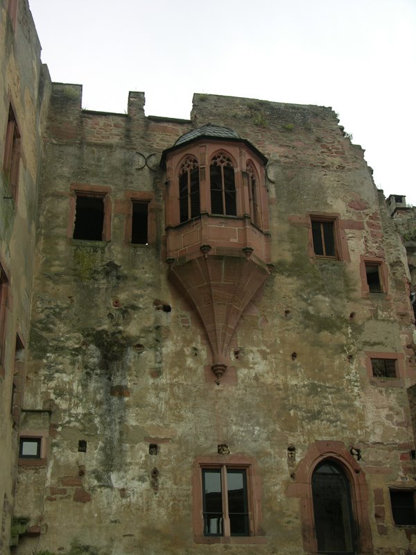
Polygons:
[[29,0],[83,107],[189,118],[193,92],[332,106],[377,187],[416,205],[416,0]]

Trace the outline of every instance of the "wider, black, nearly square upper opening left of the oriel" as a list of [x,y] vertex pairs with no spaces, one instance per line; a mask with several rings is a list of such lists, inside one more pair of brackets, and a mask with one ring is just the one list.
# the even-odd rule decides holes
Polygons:
[[102,196],[76,196],[73,239],[103,240],[104,198]]

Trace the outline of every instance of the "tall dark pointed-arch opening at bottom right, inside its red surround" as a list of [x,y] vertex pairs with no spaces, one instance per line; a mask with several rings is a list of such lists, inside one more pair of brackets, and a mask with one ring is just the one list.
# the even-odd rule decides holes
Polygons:
[[319,553],[356,553],[349,480],[332,461],[312,476],[313,516]]

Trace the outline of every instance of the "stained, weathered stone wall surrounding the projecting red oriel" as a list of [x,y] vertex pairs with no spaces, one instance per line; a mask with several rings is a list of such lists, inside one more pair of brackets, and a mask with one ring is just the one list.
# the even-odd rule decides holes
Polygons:
[[[296,473],[320,440],[359,450],[374,553],[415,550],[388,493],[415,475],[406,253],[362,149],[330,108],[197,94],[191,121],[178,121],[145,117],[139,93],[125,115],[82,111],[80,94],[53,85],[25,401],[51,411],[48,452],[43,467],[21,467],[15,514],[41,534],[17,553],[223,552],[194,541],[192,471],[225,443],[255,461],[263,513],[260,535],[227,551],[302,554]],[[274,265],[236,328],[236,379],[220,385],[196,314],[166,279],[159,168],[164,148],[209,121],[269,158]],[[71,239],[75,184],[110,187],[110,241]],[[125,244],[127,191],[155,196],[153,245]],[[338,214],[345,259],[311,257],[310,212]],[[363,294],[362,256],[385,260],[387,293]],[[365,352],[397,352],[404,373],[374,381]],[[30,498],[26,484],[38,484]]]

